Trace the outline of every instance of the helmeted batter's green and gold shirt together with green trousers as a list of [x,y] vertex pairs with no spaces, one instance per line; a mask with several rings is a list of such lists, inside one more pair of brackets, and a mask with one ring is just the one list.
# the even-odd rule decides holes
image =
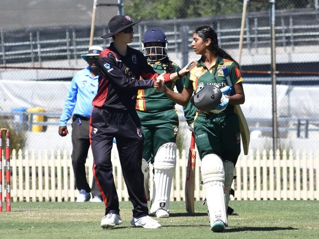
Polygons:
[[[177,72],[181,70],[174,62],[155,62],[149,64],[155,72]],[[168,69],[167,69],[168,68]],[[184,88],[185,78],[171,81],[166,86],[178,92]],[[147,162],[154,160],[160,146],[164,143],[176,143],[176,136],[179,128],[179,119],[175,102],[169,99],[164,93],[155,91],[153,88],[138,90],[136,99],[136,111],[141,119],[144,135],[143,159]],[[184,115],[188,124],[193,123],[195,107],[189,102],[183,107]]]

